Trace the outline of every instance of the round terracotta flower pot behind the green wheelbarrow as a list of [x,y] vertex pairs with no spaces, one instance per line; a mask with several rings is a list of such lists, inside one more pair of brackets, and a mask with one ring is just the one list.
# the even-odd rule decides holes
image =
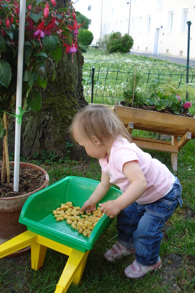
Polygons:
[[[14,165],[14,162],[10,162],[10,164]],[[23,204],[31,194],[47,187],[49,184],[49,176],[43,168],[34,164],[20,162],[20,168],[22,167],[40,170],[45,175],[45,181],[39,188],[29,193],[12,197],[0,197],[0,244],[26,230],[26,226],[18,222]]]

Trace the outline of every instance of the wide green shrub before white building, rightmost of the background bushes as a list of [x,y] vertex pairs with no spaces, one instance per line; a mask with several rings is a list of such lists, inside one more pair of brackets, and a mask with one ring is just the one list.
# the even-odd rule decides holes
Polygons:
[[108,53],[127,53],[132,47],[132,45],[133,39],[130,35],[126,33],[122,36],[121,33],[117,31],[109,35],[106,44],[106,49]]

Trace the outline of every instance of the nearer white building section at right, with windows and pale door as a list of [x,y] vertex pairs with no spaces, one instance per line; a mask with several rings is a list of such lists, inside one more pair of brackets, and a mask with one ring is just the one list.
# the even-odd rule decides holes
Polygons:
[[132,0],[130,35],[133,50],[187,57],[188,25],[190,57],[195,58],[194,0]]

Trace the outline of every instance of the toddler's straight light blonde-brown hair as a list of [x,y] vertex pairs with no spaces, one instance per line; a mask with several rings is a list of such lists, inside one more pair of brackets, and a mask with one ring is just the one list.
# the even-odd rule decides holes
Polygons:
[[131,141],[131,136],[118,116],[102,105],[91,105],[82,108],[74,117],[70,133],[74,140],[74,129],[91,141],[96,136],[101,144],[104,139],[114,141],[121,136]]

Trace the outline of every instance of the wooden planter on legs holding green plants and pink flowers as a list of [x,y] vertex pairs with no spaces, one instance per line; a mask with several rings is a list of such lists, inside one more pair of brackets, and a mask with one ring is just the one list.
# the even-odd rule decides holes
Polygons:
[[155,82],[143,94],[138,81],[139,75],[135,74],[131,88],[123,94],[124,101],[116,104],[114,111],[130,133],[137,129],[171,136],[171,142],[141,137],[132,137],[132,142],[142,148],[170,152],[172,168],[177,171],[178,151],[195,138],[195,118],[189,113],[192,103],[186,101],[190,85],[176,89],[166,84],[159,89]]

